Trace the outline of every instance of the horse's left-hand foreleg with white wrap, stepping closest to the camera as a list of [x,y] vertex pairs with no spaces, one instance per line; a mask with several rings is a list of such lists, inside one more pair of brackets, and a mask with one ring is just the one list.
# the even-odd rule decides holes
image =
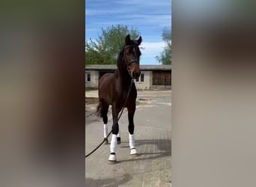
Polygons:
[[112,126],[112,139],[110,143],[110,156],[109,161],[116,161],[116,151],[117,151],[117,135],[119,132],[119,126],[118,126],[118,109],[115,105],[112,105],[112,117],[113,117],[113,126]]

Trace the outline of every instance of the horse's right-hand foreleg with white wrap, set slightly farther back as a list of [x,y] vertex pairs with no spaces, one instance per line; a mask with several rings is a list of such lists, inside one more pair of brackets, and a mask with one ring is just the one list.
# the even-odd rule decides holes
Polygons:
[[131,149],[130,154],[137,154],[137,150],[135,149],[135,139],[134,139],[134,122],[133,117],[135,114],[135,106],[132,108],[128,108],[128,120],[129,120],[129,148]]

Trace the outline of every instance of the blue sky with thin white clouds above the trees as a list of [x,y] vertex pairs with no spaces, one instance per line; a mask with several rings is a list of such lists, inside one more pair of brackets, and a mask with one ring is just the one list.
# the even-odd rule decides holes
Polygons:
[[95,40],[101,28],[128,25],[141,32],[141,64],[158,64],[162,30],[171,29],[171,0],[86,0],[85,40]]

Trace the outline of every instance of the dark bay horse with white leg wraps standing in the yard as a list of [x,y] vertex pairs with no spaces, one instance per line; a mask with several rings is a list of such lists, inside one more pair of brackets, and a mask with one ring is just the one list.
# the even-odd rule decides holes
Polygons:
[[[104,138],[106,142],[108,142],[106,138],[108,135],[107,114],[109,111],[109,105],[112,105],[113,125],[109,156],[109,161],[112,162],[116,161],[115,153],[117,150],[117,144],[121,141],[118,133],[118,114],[123,106],[128,110],[129,147],[131,149],[130,154],[137,154],[133,135],[133,116],[136,108],[137,91],[133,82],[128,99],[127,93],[132,79],[138,78],[141,74],[139,68],[141,52],[138,48],[138,46],[141,44],[141,40],[141,37],[139,37],[138,40],[131,40],[128,34],[125,38],[125,45],[118,55],[118,70],[116,70],[115,73],[104,74],[99,81],[99,105],[97,111],[99,111],[100,116],[103,117]],[[127,103],[124,105],[126,99]]]

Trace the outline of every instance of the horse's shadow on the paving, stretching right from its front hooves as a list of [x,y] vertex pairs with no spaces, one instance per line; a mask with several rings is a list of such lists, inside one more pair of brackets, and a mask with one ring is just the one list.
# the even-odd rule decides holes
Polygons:
[[[122,148],[129,148],[129,142],[122,141],[121,142],[121,149]],[[156,146],[156,152],[152,151],[151,149],[148,150],[148,147],[146,147],[146,150],[142,148],[142,146],[145,145],[152,145]],[[134,156],[131,159],[122,159],[118,162],[129,162],[129,161],[135,161],[135,160],[146,160],[146,159],[158,159],[165,156],[171,156],[171,140],[169,139],[150,139],[150,140],[137,140],[136,141],[136,148],[138,150],[138,155]],[[143,149],[143,150],[142,150]],[[155,149],[155,148],[153,148]]]

